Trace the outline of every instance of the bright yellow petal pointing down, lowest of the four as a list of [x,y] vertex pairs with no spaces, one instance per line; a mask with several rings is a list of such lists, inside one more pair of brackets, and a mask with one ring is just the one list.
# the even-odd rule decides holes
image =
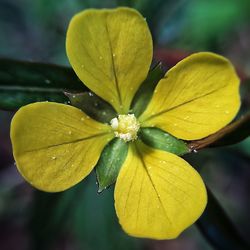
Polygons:
[[116,213],[128,234],[176,238],[206,202],[204,183],[186,161],[142,143],[130,147],[115,187]]

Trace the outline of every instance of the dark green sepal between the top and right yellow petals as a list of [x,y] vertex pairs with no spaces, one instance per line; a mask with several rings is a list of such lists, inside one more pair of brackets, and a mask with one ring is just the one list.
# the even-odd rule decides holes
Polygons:
[[157,83],[164,76],[165,72],[162,69],[161,63],[158,63],[152,70],[149,71],[146,80],[141,84],[136,92],[132,104],[131,113],[139,117],[146,109]]

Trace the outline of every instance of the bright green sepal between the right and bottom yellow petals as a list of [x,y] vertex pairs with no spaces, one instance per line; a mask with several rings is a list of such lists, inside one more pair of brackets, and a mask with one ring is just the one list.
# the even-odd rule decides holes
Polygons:
[[148,146],[176,155],[189,153],[187,144],[159,128],[141,128],[139,138]]

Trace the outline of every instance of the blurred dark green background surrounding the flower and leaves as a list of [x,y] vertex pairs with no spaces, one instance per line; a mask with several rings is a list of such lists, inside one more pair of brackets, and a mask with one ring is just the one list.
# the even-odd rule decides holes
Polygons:
[[[154,59],[166,69],[195,51],[228,57],[242,79],[241,114],[249,111],[249,0],[0,0],[0,57],[69,66],[65,34],[71,17],[86,8],[116,6],[134,7],[146,17]],[[113,189],[97,194],[94,173],[63,193],[34,190],[15,168],[9,139],[12,116],[0,111],[1,250],[215,249],[196,225],[171,241],[127,236],[115,215]],[[249,241],[250,139],[187,159]]]

